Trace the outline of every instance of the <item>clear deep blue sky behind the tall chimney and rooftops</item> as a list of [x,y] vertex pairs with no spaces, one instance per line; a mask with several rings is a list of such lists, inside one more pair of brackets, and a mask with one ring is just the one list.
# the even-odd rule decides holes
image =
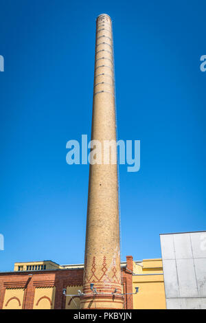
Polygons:
[[0,270],[82,263],[88,165],[66,143],[91,134],[95,18],[113,19],[122,258],[161,256],[159,234],[205,230],[205,1],[1,0]]

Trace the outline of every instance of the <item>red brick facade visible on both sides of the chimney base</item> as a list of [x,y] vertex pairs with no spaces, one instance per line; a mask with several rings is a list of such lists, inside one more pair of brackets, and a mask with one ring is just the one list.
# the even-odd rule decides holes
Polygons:
[[[133,270],[133,257],[126,257],[127,268]],[[132,274],[123,269],[122,280],[124,293],[132,292]],[[24,287],[23,309],[33,309],[34,293],[36,287],[55,286],[55,309],[65,309],[65,296],[62,289],[67,286],[83,284],[83,269],[59,269],[54,271],[15,271],[9,273],[0,272],[0,309],[3,307],[3,298],[6,287]],[[133,296],[126,295],[124,309],[133,309]]]

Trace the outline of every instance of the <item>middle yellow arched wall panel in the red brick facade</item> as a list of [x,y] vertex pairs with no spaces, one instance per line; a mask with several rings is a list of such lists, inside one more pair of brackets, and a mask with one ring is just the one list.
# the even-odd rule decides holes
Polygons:
[[33,309],[54,309],[55,290],[56,287],[36,288]]

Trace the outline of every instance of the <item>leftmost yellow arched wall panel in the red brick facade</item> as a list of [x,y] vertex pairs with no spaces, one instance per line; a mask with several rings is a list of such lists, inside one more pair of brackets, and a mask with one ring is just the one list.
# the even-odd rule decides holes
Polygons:
[[[24,294],[23,288],[5,289],[3,309],[22,309],[23,294]],[[13,298],[13,299],[10,300],[10,298]],[[16,298],[18,298],[18,300],[16,300]]]

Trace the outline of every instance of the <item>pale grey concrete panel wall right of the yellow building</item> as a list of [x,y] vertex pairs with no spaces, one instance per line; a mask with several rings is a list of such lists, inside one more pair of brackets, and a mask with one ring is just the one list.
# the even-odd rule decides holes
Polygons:
[[206,231],[160,240],[167,309],[206,309]]

